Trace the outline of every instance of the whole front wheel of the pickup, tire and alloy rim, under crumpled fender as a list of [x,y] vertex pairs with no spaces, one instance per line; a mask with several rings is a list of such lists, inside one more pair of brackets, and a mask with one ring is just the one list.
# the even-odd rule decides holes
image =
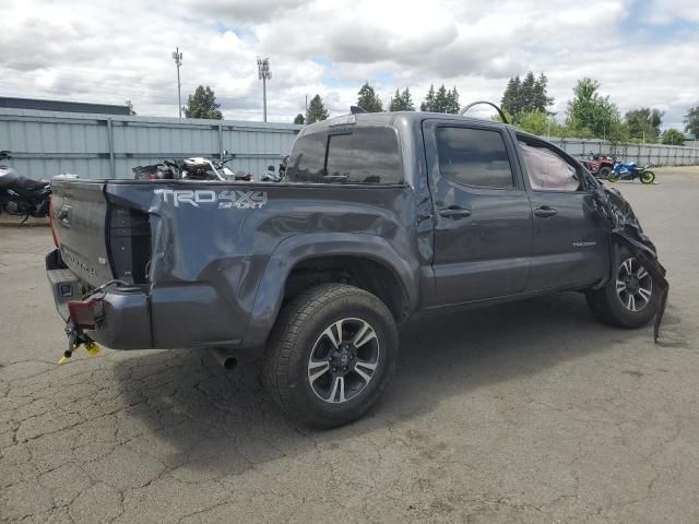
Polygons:
[[645,267],[626,248],[619,249],[615,275],[600,289],[585,293],[592,314],[605,324],[640,327],[657,313],[660,293]]

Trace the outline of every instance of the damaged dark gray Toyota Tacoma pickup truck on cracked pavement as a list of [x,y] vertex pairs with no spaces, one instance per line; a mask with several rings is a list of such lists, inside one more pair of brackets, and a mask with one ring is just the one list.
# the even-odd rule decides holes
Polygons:
[[579,290],[603,322],[638,327],[664,307],[620,195],[502,123],[348,115],[299,133],[281,183],[52,191],[46,264],[71,348],[260,352],[271,395],[319,427],[377,401],[416,314]]

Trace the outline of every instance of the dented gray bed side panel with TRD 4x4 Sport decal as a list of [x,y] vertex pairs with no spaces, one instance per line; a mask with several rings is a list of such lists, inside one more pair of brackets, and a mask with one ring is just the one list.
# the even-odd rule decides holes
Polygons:
[[[236,205],[239,198],[218,205],[232,202],[232,191],[248,198],[241,205]],[[336,234],[372,235],[393,246],[394,259],[419,259],[410,227],[414,192],[403,186],[151,181],[110,183],[108,198],[151,217],[149,277],[157,348],[239,344],[256,307],[279,308],[295,261],[263,276],[271,253],[291,237],[313,234],[316,251],[322,253],[323,241],[333,242]],[[256,303],[261,282],[274,284]],[[254,336],[263,338],[271,325],[257,327]]]

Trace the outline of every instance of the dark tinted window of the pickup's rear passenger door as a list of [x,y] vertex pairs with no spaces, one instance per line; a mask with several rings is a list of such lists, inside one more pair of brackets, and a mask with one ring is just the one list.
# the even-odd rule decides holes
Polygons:
[[475,188],[512,189],[512,169],[498,131],[437,128],[439,174]]

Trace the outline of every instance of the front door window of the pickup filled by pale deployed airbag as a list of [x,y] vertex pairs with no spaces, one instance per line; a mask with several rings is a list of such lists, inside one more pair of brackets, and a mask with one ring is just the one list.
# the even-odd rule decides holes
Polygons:
[[578,191],[578,169],[555,151],[518,141],[529,183],[534,191]]

